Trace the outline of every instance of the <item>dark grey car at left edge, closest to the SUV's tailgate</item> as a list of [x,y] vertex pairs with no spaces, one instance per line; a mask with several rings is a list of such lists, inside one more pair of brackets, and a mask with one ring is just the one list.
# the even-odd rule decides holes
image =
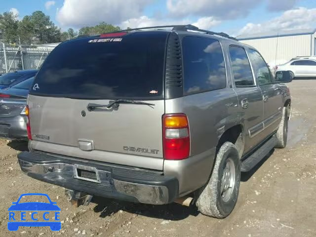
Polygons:
[[27,140],[25,106],[34,77],[0,90],[0,137]]

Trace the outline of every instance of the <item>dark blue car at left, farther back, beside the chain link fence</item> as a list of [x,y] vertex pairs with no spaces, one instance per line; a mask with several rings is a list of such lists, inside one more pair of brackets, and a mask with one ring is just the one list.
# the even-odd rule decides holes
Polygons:
[[0,76],[0,89],[11,87],[23,80],[32,78],[37,72],[38,70],[20,70],[3,74]]

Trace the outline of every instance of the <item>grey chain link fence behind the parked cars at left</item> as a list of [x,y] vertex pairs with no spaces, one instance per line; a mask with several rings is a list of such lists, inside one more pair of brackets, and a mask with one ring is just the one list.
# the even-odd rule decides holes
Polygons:
[[12,46],[0,43],[0,74],[17,70],[39,69],[57,44]]

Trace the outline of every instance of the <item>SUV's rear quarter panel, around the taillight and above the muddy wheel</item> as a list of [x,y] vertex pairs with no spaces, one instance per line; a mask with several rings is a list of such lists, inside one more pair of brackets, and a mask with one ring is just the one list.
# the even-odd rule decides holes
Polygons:
[[190,128],[190,157],[164,160],[166,175],[179,181],[179,195],[184,196],[203,186],[213,167],[216,146],[221,135],[240,124],[238,102],[231,88],[208,91],[165,101],[166,114],[185,113]]

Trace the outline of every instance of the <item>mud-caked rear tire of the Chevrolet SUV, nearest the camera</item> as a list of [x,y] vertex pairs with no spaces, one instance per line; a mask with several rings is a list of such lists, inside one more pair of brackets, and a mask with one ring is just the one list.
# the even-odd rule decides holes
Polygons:
[[[226,192],[222,192],[222,183],[223,185],[227,184],[223,178],[223,175],[227,174],[227,172],[224,172],[227,171],[225,169],[227,168],[227,163],[229,163],[229,167],[234,167],[235,173],[231,175],[231,181],[228,182],[230,188]],[[230,173],[233,172],[231,171]],[[209,182],[199,190],[200,194],[196,202],[197,209],[206,216],[220,219],[227,217],[236,205],[239,185],[240,159],[238,151],[233,143],[225,142],[217,152]],[[226,189],[226,187],[224,188]]]

